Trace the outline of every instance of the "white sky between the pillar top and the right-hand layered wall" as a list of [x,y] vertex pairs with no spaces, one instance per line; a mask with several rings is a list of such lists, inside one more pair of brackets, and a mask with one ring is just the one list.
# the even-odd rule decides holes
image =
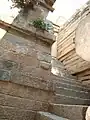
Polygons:
[[48,19],[54,23],[63,23],[68,20],[77,9],[82,7],[88,0],[56,0],[55,11],[49,13]]

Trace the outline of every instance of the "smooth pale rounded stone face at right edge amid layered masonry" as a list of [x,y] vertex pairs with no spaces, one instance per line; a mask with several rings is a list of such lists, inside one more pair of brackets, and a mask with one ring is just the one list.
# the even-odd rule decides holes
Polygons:
[[90,15],[83,19],[76,30],[76,53],[90,61]]

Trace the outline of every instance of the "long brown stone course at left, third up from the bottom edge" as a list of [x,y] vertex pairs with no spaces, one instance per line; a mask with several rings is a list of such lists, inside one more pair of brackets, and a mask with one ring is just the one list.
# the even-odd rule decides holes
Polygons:
[[54,93],[28,86],[0,81],[0,93],[42,102],[52,102]]

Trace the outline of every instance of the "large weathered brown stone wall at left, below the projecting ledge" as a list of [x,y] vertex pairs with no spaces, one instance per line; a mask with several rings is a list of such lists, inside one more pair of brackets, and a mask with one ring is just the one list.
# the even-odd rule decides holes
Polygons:
[[0,40],[0,120],[33,120],[53,101],[50,44],[11,31]]

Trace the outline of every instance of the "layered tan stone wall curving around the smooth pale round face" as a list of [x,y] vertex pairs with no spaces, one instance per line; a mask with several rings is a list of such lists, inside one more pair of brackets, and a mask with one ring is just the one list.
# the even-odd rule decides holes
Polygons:
[[[81,9],[68,20],[59,30],[58,40],[57,40],[57,57],[63,62],[65,68],[71,74],[85,74],[88,69],[90,69],[90,63],[83,60],[76,53],[75,37],[76,29],[79,23],[90,14],[90,3],[87,2]],[[83,49],[83,48],[82,48]],[[89,72],[89,71],[88,71]],[[77,75],[77,76],[78,76]],[[80,78],[80,81],[87,80]],[[83,77],[83,76],[82,76]],[[85,78],[85,76],[83,77]],[[88,79],[89,80],[89,79]]]

